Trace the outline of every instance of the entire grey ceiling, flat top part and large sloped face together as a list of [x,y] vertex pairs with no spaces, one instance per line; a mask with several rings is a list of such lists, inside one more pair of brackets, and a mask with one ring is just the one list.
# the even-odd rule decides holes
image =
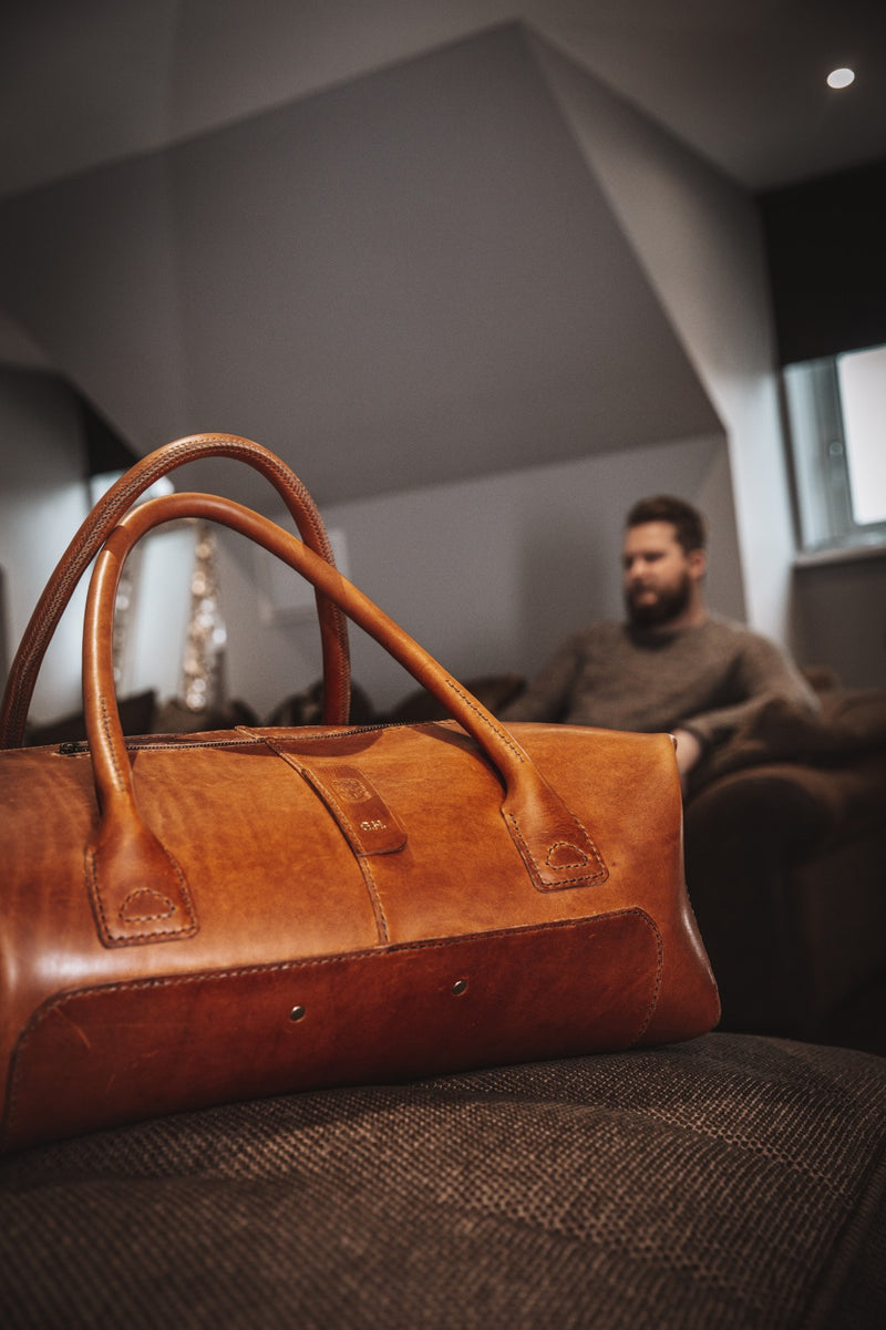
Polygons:
[[730,196],[886,157],[883,0],[7,0],[0,362],[322,501],[720,428],[533,35]]

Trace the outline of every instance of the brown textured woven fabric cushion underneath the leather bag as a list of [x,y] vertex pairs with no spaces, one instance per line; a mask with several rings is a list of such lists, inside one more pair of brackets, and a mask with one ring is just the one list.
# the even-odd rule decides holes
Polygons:
[[873,1330],[886,1060],[740,1035],[0,1164],[16,1327]]

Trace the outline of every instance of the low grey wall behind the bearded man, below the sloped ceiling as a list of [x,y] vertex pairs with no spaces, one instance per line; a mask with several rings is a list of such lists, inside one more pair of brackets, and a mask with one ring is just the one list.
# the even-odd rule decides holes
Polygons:
[[[728,458],[716,436],[337,504],[323,516],[346,539],[351,580],[464,678],[531,673],[573,628],[619,617],[624,513],[661,491],[710,516],[710,601],[740,617]],[[229,532],[220,545],[230,692],[266,716],[319,677],[317,628],[310,617],[265,624],[249,547]],[[359,629],[351,649],[354,680],[376,709],[415,686]]]

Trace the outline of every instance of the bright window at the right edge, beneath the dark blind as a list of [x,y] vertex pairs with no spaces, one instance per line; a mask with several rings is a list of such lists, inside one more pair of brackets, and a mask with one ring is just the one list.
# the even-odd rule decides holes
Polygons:
[[785,370],[805,552],[886,548],[886,346]]

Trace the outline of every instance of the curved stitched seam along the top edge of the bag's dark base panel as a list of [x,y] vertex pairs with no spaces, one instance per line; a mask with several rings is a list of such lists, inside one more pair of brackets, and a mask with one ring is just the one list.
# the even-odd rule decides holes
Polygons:
[[[19,1085],[23,1076],[21,1063],[24,1061],[24,1055],[27,1052],[31,1039],[36,1035],[40,1025],[59,1008],[64,1007],[73,999],[90,999],[100,998],[106,994],[114,992],[134,992],[145,988],[168,988],[178,984],[202,984],[202,983],[225,983],[231,979],[242,979],[250,975],[273,975],[295,972],[299,970],[309,970],[323,966],[346,966],[354,960],[384,960],[391,955],[410,955],[412,952],[422,951],[442,951],[442,950],[456,950],[463,943],[479,942],[479,940],[495,940],[499,938],[512,938],[523,936],[532,932],[557,932],[557,931],[577,931],[580,928],[592,927],[595,924],[607,923],[611,919],[625,919],[636,916],[647,923],[656,940],[656,986],[645,1020],[635,1037],[627,1044],[627,1048],[633,1048],[633,1045],[643,1039],[644,1033],[649,1027],[649,1021],[655,1013],[656,1005],[659,1003],[659,994],[661,991],[661,971],[663,971],[663,943],[659,926],[656,924],[652,915],[649,915],[640,906],[631,906],[627,910],[612,910],[600,915],[589,915],[584,919],[555,919],[549,923],[527,924],[524,927],[516,928],[496,928],[488,932],[470,932],[464,934],[462,938],[428,938],[423,942],[404,942],[394,943],[387,947],[372,947],[363,948],[361,951],[351,951],[345,954],[335,954],[331,956],[309,956],[303,960],[278,960],[270,962],[269,964],[258,966],[242,966],[238,970],[209,970],[205,974],[182,974],[182,975],[157,975],[154,978],[145,979],[130,979],[121,980],[112,984],[94,984],[88,988],[72,988],[67,992],[57,994],[55,998],[48,999],[37,1011],[31,1016],[21,1035],[16,1040],[15,1049],[11,1057],[11,1073],[9,1073],[9,1095],[7,1100],[7,1113],[5,1113],[5,1133],[8,1133],[15,1125],[17,1109],[19,1109]],[[3,1124],[0,1124],[1,1128]]]

